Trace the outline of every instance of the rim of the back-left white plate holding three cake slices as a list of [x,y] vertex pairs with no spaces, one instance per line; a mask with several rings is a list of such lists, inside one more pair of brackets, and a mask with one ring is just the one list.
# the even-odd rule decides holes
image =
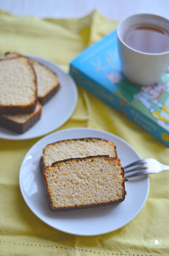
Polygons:
[[[48,132],[43,132],[41,133],[40,135],[32,135],[32,136],[26,136],[26,137],[19,137],[19,135],[22,135],[22,134],[18,134],[16,133],[16,136],[18,137],[15,137],[15,134],[6,134],[4,133],[3,136],[0,134],[0,139],[4,139],[4,140],[31,140],[31,139],[34,139],[34,138],[39,138],[41,136],[45,136],[47,134],[50,134],[52,132],[54,132],[54,130],[58,129],[59,127],[61,127],[63,124],[65,124],[70,116],[73,114],[76,106],[77,106],[77,100],[78,100],[78,90],[77,90],[77,85],[75,83],[75,81],[73,80],[73,78],[70,76],[70,74],[66,73],[66,71],[56,62],[54,61],[51,61],[51,60],[48,60],[48,59],[45,59],[45,58],[41,58],[40,56],[36,56],[36,55],[28,55],[28,54],[24,54],[23,56],[27,57],[27,58],[35,58],[38,60],[42,60],[42,61],[46,61],[48,62],[49,64],[52,64],[54,66],[56,66],[56,68],[60,69],[61,72],[63,72],[66,76],[69,77],[70,81],[71,81],[71,84],[72,84],[72,88],[73,88],[73,92],[74,92],[74,102],[72,104],[72,108],[71,110],[69,111],[69,115],[67,115],[63,120],[62,122],[59,124],[59,126],[55,127],[55,128],[52,128],[51,130],[49,130]],[[4,58],[4,55],[0,55],[0,59]],[[45,105],[44,105],[45,106]],[[43,106],[42,106],[43,108]],[[2,127],[3,128],[3,127]],[[4,128],[3,128],[4,129]],[[29,130],[28,130],[29,131]],[[10,132],[10,131],[9,131]],[[23,133],[24,134],[24,133]]]

